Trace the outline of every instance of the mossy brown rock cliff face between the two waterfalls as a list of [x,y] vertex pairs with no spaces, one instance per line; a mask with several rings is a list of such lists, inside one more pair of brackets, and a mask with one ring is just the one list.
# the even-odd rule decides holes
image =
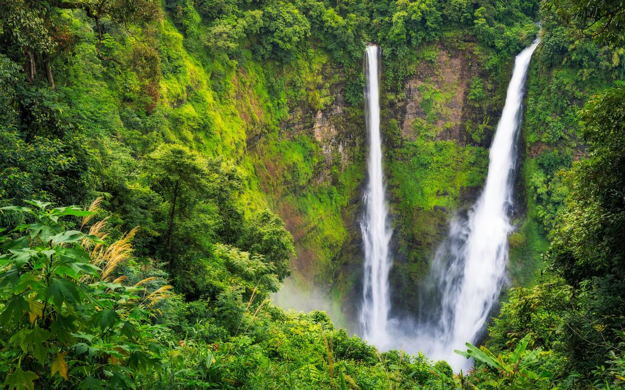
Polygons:
[[[387,175],[394,226],[394,307],[418,308],[418,288],[453,215],[476,200],[511,69],[469,40],[437,42],[386,110]],[[487,81],[488,80],[488,81]]]

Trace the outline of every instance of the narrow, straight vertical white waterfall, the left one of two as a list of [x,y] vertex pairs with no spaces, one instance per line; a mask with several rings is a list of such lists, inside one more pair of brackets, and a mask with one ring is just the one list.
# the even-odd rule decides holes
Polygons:
[[367,46],[365,72],[367,85],[364,91],[366,125],[369,135],[368,185],[364,195],[365,214],[361,220],[364,243],[364,286],[361,322],[364,338],[378,348],[389,343],[389,241],[391,229],[387,223],[387,207],[384,199],[382,171],[382,142],[380,137],[379,105],[379,47]]

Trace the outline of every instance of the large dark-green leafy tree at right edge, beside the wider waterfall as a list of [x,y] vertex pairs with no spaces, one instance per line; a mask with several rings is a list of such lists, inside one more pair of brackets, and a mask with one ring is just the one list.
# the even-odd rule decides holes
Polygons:
[[571,195],[549,255],[568,283],[625,278],[625,88],[606,90],[580,112],[588,157],[573,164]]

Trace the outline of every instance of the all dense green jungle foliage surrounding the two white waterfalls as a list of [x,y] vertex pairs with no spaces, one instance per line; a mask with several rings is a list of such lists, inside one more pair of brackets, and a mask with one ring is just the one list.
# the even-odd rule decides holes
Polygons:
[[[0,0],[2,386],[625,388],[624,17],[604,0]],[[476,368],[275,306],[296,273],[356,310],[365,42],[409,307],[539,28],[516,287],[460,352]],[[459,52],[461,114],[462,80],[436,72]]]

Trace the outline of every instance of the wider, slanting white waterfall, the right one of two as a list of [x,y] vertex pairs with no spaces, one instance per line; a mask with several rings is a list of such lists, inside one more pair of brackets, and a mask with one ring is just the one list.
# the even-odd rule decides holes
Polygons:
[[471,362],[454,349],[478,341],[506,280],[516,141],[527,68],[538,43],[536,39],[516,56],[486,184],[467,217],[452,221],[432,264],[433,291],[422,302],[417,343],[429,358],[446,359],[456,369]]

